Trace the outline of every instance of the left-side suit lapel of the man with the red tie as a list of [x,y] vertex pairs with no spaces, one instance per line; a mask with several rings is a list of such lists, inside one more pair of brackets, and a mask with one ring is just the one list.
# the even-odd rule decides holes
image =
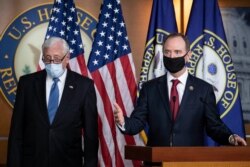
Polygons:
[[161,96],[161,99],[164,104],[164,108],[166,109],[167,115],[169,116],[169,119],[171,119],[171,112],[169,108],[169,97],[168,97],[168,85],[167,85],[167,76],[164,75],[159,78],[158,82],[158,90]]

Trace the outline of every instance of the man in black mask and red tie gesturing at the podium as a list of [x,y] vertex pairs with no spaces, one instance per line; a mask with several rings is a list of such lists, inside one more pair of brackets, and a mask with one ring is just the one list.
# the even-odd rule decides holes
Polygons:
[[221,121],[213,87],[188,74],[190,44],[182,34],[163,43],[166,75],[144,83],[135,110],[124,117],[114,103],[114,117],[122,133],[134,135],[149,125],[148,146],[202,146],[204,130],[222,145],[246,145]]

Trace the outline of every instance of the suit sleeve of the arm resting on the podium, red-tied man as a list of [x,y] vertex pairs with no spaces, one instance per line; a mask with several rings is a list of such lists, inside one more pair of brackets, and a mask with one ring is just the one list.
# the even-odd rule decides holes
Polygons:
[[[203,100],[203,99],[202,99]],[[206,113],[206,131],[207,134],[216,142],[222,145],[229,144],[229,136],[232,134],[231,130],[220,119],[216,99],[212,86],[208,87],[206,98],[203,101]]]

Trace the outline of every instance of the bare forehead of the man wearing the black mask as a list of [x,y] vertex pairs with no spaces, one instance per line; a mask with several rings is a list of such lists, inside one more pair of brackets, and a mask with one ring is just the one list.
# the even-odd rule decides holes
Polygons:
[[164,43],[164,49],[167,50],[185,50],[186,44],[181,37],[171,37]]

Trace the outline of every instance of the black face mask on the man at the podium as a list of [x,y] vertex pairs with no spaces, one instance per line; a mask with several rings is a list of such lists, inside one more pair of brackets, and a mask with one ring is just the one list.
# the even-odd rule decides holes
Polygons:
[[185,56],[187,55],[187,53],[182,57],[176,57],[176,58],[169,58],[169,57],[163,56],[163,63],[164,63],[165,68],[170,73],[176,73],[176,72],[181,71],[183,67],[185,66]]

